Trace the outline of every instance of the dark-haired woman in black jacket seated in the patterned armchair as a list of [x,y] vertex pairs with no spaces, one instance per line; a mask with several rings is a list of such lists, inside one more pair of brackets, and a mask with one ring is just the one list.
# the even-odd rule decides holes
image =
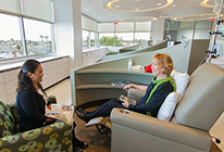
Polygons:
[[[40,90],[46,94],[41,87],[42,81],[42,66],[36,60],[27,60],[17,75],[18,87],[16,89],[16,110],[20,115],[20,131],[27,131],[30,129],[39,128],[45,125],[53,124],[55,119],[49,118],[45,115],[46,104],[48,109],[51,107],[51,103],[46,103]],[[73,123],[75,127],[75,122]],[[87,142],[79,141],[75,137],[73,128],[73,145],[75,150],[79,152],[88,147]]]

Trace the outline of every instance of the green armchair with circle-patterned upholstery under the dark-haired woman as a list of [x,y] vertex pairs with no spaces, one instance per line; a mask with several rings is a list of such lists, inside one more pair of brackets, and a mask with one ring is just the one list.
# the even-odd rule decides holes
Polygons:
[[[0,101],[0,150],[15,151],[72,151],[72,124],[57,122],[41,128],[18,132],[15,102]],[[16,127],[17,126],[17,127]]]

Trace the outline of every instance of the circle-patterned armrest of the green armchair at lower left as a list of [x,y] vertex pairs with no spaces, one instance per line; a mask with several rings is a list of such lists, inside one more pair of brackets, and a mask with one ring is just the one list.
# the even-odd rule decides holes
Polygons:
[[46,152],[58,149],[72,151],[72,125],[70,122],[54,124],[0,138],[0,149]]

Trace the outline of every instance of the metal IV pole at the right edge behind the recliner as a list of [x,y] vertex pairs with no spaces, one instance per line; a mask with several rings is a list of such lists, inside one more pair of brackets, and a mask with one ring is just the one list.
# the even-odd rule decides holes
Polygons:
[[216,18],[216,26],[215,26],[215,29],[214,29],[212,45],[211,45],[210,50],[208,51],[209,59],[207,60],[207,62],[209,62],[209,63],[211,63],[212,54],[214,53],[214,45],[215,45],[215,41],[216,41],[217,29],[219,29],[220,22],[221,22],[222,9],[223,9],[223,0],[221,1],[221,4],[220,4],[220,12],[219,12],[219,16]]

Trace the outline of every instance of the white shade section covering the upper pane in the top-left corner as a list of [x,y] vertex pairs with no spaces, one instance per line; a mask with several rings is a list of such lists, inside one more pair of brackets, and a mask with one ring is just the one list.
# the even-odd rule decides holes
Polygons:
[[0,0],[0,10],[21,14],[20,0]]

